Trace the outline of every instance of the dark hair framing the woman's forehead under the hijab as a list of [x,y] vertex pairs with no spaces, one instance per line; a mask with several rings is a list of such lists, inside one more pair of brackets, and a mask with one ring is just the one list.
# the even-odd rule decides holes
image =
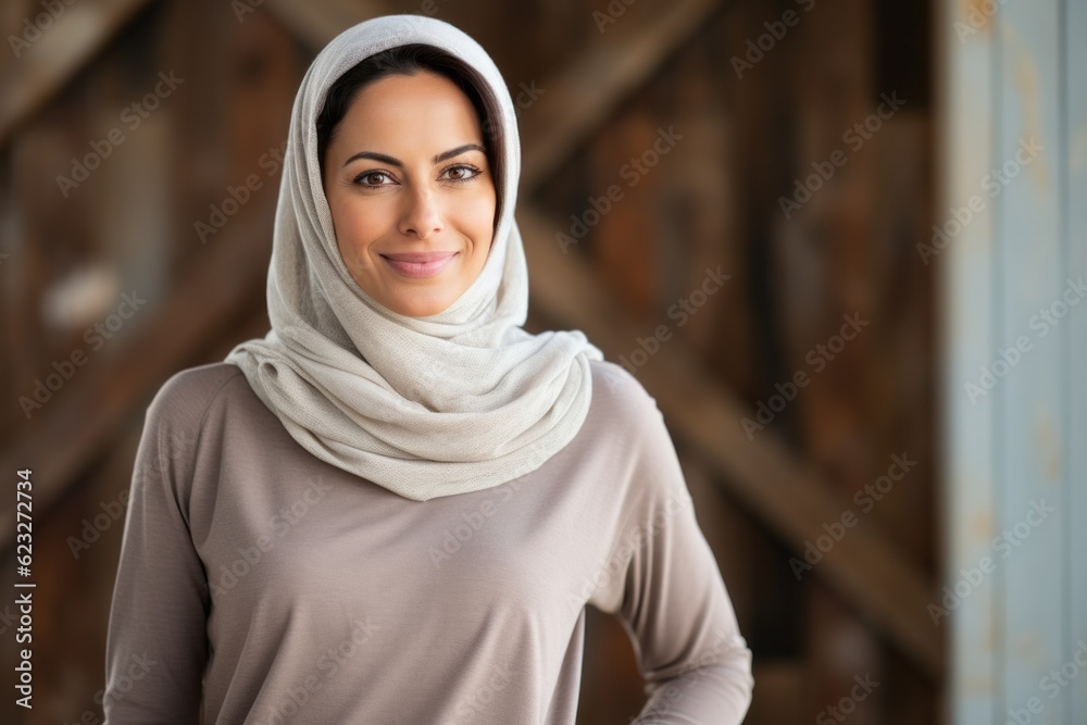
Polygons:
[[497,190],[495,224],[502,215],[502,188],[504,183],[504,139],[495,129],[501,128],[498,100],[490,86],[474,67],[461,59],[434,46],[412,43],[383,50],[355,64],[328,88],[324,108],[317,114],[317,163],[321,176],[325,173],[325,152],[332,143],[347,111],[359,91],[367,85],[390,75],[435,73],[457,84],[479,117],[483,146],[491,168]]

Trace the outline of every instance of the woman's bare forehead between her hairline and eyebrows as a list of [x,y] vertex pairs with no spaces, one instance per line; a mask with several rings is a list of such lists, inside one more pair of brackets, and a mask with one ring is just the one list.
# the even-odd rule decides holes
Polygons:
[[[435,73],[390,75],[355,93],[337,136],[343,142],[440,146],[478,142],[479,118],[457,84]],[[454,143],[455,145],[455,143]],[[441,150],[445,150],[442,148]]]

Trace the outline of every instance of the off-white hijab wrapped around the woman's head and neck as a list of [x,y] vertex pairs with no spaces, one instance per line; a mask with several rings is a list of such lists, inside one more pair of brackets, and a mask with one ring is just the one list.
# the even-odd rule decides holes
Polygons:
[[[374,53],[435,46],[475,68],[500,108],[501,217],[479,276],[428,317],[388,310],[351,277],[336,245],[315,121],[328,88]],[[302,79],[290,117],[267,305],[272,329],[227,355],[302,448],[416,501],[535,471],[577,434],[592,396],[579,330],[530,335],[528,270],[513,218],[521,143],[513,101],[487,52],[442,21],[393,15],[336,37]]]

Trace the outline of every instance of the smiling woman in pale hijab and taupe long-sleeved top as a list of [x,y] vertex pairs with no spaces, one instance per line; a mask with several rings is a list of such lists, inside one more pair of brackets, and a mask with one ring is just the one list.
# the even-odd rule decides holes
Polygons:
[[272,330],[148,410],[107,722],[575,721],[586,604],[639,722],[739,723],[752,680],[654,400],[533,336],[515,113],[486,52],[362,23],[295,103]]

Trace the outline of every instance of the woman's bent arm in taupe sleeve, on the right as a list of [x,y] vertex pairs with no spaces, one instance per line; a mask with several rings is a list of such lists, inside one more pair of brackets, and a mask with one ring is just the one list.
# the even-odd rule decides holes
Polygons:
[[590,603],[630,635],[649,700],[635,723],[736,725],[751,702],[751,651],[695,517],[663,416],[652,398],[632,441],[633,513],[615,573]]

